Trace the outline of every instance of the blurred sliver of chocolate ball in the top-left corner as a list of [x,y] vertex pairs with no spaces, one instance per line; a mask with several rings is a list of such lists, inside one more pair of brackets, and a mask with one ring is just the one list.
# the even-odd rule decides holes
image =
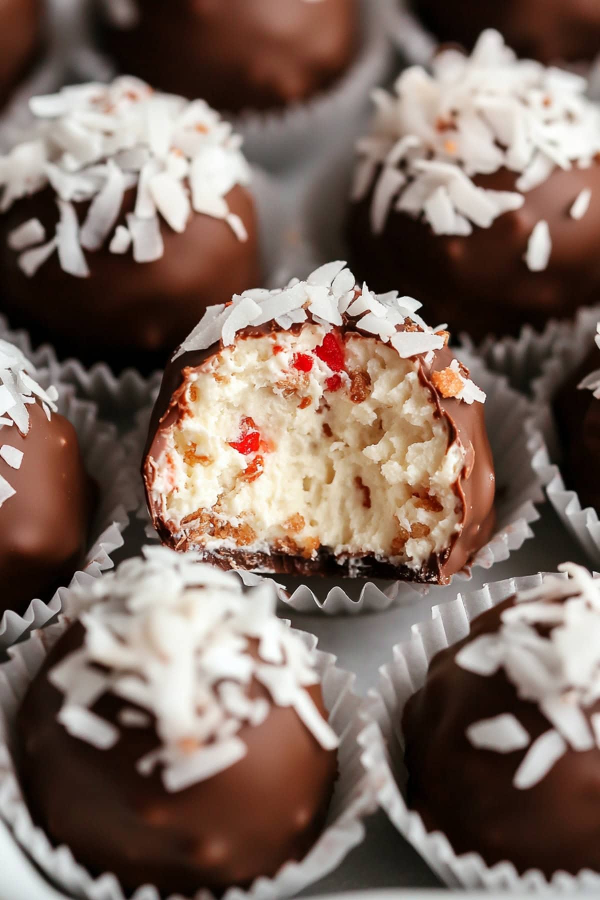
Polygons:
[[0,107],[40,48],[41,0],[0,0]]

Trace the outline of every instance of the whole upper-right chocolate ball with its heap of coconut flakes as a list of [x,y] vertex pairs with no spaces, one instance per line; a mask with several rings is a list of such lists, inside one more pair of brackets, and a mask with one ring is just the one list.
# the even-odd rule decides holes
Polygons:
[[542,328],[600,286],[600,111],[584,78],[517,59],[497,31],[373,94],[357,143],[354,271],[474,338]]

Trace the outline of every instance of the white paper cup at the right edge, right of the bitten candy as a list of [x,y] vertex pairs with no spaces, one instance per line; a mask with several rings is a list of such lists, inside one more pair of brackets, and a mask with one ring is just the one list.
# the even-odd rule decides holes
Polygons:
[[546,457],[539,459],[538,473],[546,484],[548,500],[559,514],[561,522],[584,548],[596,568],[600,567],[600,521],[596,509],[582,508],[577,492],[569,491],[562,478],[560,443],[554,427],[551,404],[560,386],[594,347],[598,321],[600,308],[596,307],[580,310],[574,323],[560,326],[551,355],[542,366],[542,374],[533,383],[533,421],[543,431],[550,448]]

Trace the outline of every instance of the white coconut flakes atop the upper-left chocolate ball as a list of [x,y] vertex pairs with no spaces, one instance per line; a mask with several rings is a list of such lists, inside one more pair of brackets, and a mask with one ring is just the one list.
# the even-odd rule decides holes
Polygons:
[[[38,220],[25,221],[9,237],[22,271],[34,275],[58,250],[70,275],[89,274],[84,251],[110,239],[112,253],[133,244],[137,262],[163,255],[160,219],[184,231],[193,211],[223,219],[239,240],[246,229],[228,208],[227,194],[248,184],[242,139],[202,100],[159,94],[130,76],[110,85],[64,87],[33,97],[35,124],[29,138],[0,157],[0,211],[49,185],[60,221],[46,239]],[[127,228],[117,224],[126,191],[136,203]],[[83,221],[74,204],[88,202]],[[40,246],[34,246],[40,245]]]

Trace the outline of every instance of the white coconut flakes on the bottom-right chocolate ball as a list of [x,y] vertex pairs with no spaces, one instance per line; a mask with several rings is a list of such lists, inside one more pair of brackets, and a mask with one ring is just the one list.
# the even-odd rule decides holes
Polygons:
[[506,608],[492,635],[481,635],[457,653],[462,669],[489,677],[503,668],[519,698],[536,703],[551,726],[532,743],[512,714],[470,725],[475,747],[499,753],[528,747],[515,772],[515,788],[533,788],[564,753],[600,748],[600,580],[582,566],[564,563],[568,579],[546,578]]

